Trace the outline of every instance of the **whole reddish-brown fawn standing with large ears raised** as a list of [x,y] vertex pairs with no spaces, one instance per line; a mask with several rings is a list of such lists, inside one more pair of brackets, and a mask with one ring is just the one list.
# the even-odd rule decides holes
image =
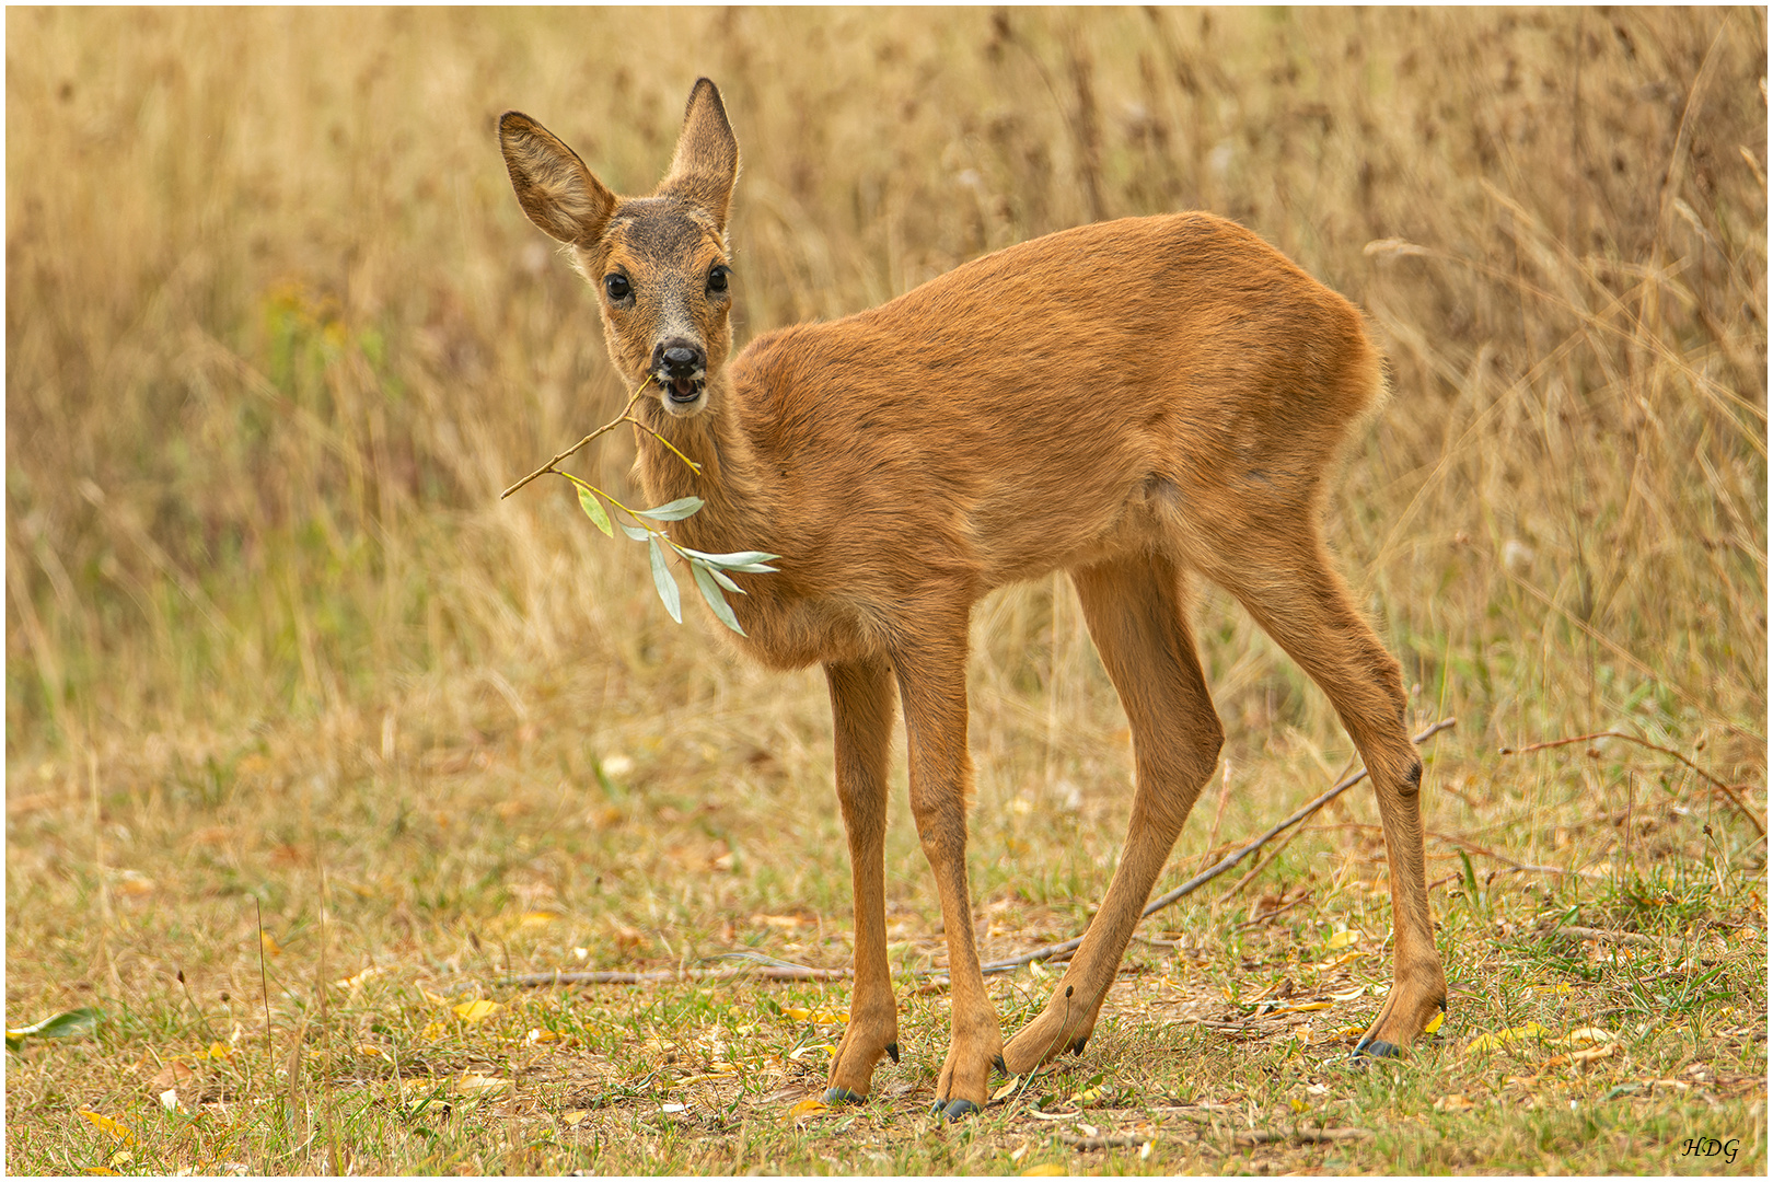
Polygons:
[[[498,121],[518,202],[598,289],[610,356],[647,381],[637,468],[652,503],[700,496],[686,546],[768,549],[738,576],[738,643],[824,666],[855,883],[855,994],[826,1099],[899,1060],[886,964],[886,758],[904,711],[911,813],[941,897],[949,1118],[991,1069],[1082,1051],[1223,732],[1188,626],[1190,581],[1225,587],[1326,695],[1383,815],[1394,985],[1356,1053],[1397,1054],[1447,985],[1429,925],[1397,661],[1323,546],[1324,471],[1378,400],[1379,353],[1346,299],[1204,213],[1128,218],[975,259],[878,308],[729,356],[727,211],[739,149],[715,83],[690,92],[670,172],[617,197],[541,124]],[[663,441],[700,464],[700,475]],[[968,617],[986,592],[1066,569],[1133,730],[1121,863],[1046,1008],[1009,1042],[986,994],[966,884]]]

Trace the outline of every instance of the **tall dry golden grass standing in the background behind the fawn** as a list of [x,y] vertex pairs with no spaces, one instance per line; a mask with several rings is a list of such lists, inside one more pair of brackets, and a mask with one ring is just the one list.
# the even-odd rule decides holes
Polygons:
[[[706,73],[741,340],[1090,218],[1230,214],[1388,349],[1330,532],[1420,707],[1764,766],[1764,9],[12,9],[7,46],[9,762],[816,718],[564,493],[496,500],[621,392],[493,121],[640,191]],[[1067,595],[980,613],[1011,773],[1119,727]],[[1337,734],[1211,592],[1200,636],[1234,744]]]

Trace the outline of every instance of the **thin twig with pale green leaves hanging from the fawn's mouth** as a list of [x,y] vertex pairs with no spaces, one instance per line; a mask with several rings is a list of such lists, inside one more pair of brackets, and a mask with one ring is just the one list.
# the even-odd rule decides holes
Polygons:
[[[598,436],[615,431],[615,427],[622,424],[633,424],[635,427],[640,427],[654,439],[663,443],[667,448],[670,448],[672,455],[681,459],[690,468],[690,471],[693,471],[695,475],[702,475],[702,466],[699,463],[679,452],[672,445],[672,441],[661,436],[658,431],[635,418],[633,413],[635,402],[640,400],[642,392],[647,388],[647,383],[651,381],[652,376],[649,374],[640,381],[638,386],[635,386],[635,392],[633,395],[629,395],[628,406],[622,408],[621,415],[603,424],[589,436],[585,436],[567,450],[560,452],[558,455],[550,459],[546,464],[543,464],[530,475],[512,484],[509,489],[498,494],[498,500],[505,500],[507,496],[527,486],[530,480],[535,480],[537,477],[546,477],[546,475],[564,477],[578,489],[578,503],[585,510],[585,516],[590,517],[590,523],[594,526],[603,530],[608,537],[615,537],[615,530],[621,528],[621,532],[631,537],[633,540],[647,544],[647,556],[652,562],[652,587],[658,588],[660,601],[665,604],[665,610],[670,613],[670,618],[683,624],[683,603],[677,594],[677,579],[670,576],[670,567],[665,565],[665,548],[670,548],[672,551],[677,553],[679,558],[690,564],[690,574],[695,576],[695,585],[702,592],[702,599],[706,599],[707,606],[715,611],[715,618],[718,618],[722,624],[725,624],[739,636],[743,636],[745,629],[739,627],[738,617],[732,615],[732,604],[727,603],[725,592],[736,592],[743,595],[745,588],[734,583],[730,574],[732,572],[769,574],[777,567],[771,567],[768,564],[780,558],[780,555],[769,555],[761,549],[736,549],[725,555],[711,555],[702,549],[690,549],[688,546],[679,546],[677,542],[672,540],[663,523],[683,521],[684,517],[693,516],[704,505],[700,496],[681,496],[670,503],[658,505],[654,509],[629,509],[615,496],[610,496],[606,491],[599,489],[596,484],[582,480],[569,471],[560,471],[560,468],[555,466],[560,461],[582,450],[587,443],[590,443]],[[613,505],[617,510],[628,514],[633,525],[628,525],[626,521],[612,521],[610,512],[603,507],[603,502],[610,502],[610,505]]]

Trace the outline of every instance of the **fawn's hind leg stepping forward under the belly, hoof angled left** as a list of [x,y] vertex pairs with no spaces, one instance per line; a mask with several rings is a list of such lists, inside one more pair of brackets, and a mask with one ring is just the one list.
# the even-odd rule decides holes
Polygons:
[[1046,1008],[1004,1047],[1012,1074],[1060,1051],[1083,1049],[1151,888],[1218,764],[1225,734],[1195,656],[1183,578],[1156,555],[1115,558],[1071,574],[1133,730],[1133,820],[1083,945]]

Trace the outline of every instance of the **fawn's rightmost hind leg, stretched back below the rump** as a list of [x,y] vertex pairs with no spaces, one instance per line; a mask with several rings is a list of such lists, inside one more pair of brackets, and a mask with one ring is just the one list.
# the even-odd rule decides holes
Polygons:
[[1447,1008],[1447,978],[1429,921],[1422,852],[1422,758],[1404,719],[1397,659],[1349,601],[1314,528],[1269,532],[1271,548],[1211,571],[1335,705],[1360,750],[1385,829],[1392,874],[1392,992],[1356,1054],[1397,1054]]

